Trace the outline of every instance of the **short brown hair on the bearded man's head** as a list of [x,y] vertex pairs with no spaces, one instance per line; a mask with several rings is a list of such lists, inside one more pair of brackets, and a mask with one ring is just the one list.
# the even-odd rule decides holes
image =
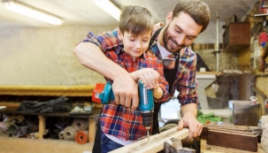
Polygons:
[[211,11],[204,2],[200,0],[180,0],[172,11],[172,19],[178,17],[181,11],[188,13],[197,25],[203,26],[200,33],[208,27]]

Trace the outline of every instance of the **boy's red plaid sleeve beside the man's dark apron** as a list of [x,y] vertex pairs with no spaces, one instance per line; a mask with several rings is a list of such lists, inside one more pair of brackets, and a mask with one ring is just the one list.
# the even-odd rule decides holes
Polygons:
[[160,99],[155,99],[156,103],[165,102],[168,99],[168,82],[165,80],[164,68],[162,63],[157,60],[156,71],[159,73],[160,77],[158,79],[159,87],[163,89],[163,96]]

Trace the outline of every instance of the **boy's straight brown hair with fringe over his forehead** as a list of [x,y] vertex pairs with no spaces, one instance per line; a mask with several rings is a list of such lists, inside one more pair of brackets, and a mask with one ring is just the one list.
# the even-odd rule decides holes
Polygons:
[[119,30],[122,34],[128,32],[134,36],[153,31],[154,18],[142,6],[125,6],[120,15]]

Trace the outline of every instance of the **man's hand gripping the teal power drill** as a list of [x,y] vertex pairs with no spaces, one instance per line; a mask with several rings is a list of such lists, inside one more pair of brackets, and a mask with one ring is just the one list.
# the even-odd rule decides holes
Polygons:
[[131,75],[120,75],[115,78],[112,83],[112,91],[115,97],[115,103],[131,107],[131,109],[138,107],[138,84]]

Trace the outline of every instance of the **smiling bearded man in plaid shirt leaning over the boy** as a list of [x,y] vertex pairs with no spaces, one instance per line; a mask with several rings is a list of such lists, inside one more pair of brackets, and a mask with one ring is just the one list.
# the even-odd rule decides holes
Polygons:
[[[182,118],[178,130],[188,126],[189,139],[200,135],[203,126],[195,119],[198,103],[196,56],[187,46],[208,27],[210,14],[208,5],[199,0],[180,0],[174,10],[167,14],[166,26],[161,29],[150,46],[150,50],[163,60],[170,96],[174,95],[176,89],[180,93],[178,99],[181,103]],[[105,39],[97,38],[98,35],[88,34],[88,37],[74,48],[74,54],[82,65],[113,80],[112,89],[116,103],[136,109],[139,104],[137,83],[126,70],[107,59],[101,51],[115,49],[122,43],[121,40],[116,35]],[[155,87],[156,83],[157,81],[152,79],[149,87]],[[160,105],[157,105],[156,114],[159,109]]]

